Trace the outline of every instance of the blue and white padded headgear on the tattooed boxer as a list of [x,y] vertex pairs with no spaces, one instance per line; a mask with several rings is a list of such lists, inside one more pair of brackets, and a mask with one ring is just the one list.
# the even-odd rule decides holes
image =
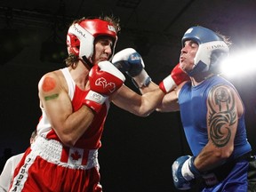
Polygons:
[[182,47],[188,40],[199,45],[194,59],[194,68],[188,72],[188,76],[207,71],[218,74],[220,60],[229,53],[228,44],[224,39],[212,30],[198,26],[188,28],[181,40]]

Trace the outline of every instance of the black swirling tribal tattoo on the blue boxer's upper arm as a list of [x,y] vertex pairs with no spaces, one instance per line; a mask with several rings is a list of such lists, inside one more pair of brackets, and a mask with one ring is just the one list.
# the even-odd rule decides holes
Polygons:
[[236,124],[234,93],[226,87],[213,87],[208,97],[208,126],[213,144],[224,147],[231,137],[232,125]]

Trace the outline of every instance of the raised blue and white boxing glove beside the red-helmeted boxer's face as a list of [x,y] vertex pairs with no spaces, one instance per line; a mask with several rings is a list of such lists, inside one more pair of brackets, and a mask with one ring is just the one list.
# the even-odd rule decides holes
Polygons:
[[145,65],[139,52],[136,52],[132,48],[117,52],[113,57],[112,63],[123,73],[132,76],[132,79],[139,88],[148,86],[151,81],[150,76],[148,76],[148,73],[144,69]]

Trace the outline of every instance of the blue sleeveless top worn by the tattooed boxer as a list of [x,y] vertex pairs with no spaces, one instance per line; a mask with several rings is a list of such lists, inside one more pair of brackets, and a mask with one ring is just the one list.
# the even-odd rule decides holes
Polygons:
[[[220,76],[212,76],[196,86],[192,86],[191,82],[188,82],[180,90],[180,117],[193,156],[197,156],[208,142],[206,100],[212,86],[217,84],[227,84],[236,91],[232,84]],[[252,150],[247,141],[244,114],[238,119],[234,147],[233,155],[230,158],[242,156]]]

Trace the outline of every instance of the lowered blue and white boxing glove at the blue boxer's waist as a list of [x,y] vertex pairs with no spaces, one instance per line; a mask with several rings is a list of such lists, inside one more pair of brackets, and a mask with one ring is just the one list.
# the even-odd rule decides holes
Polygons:
[[172,179],[175,188],[187,190],[196,185],[196,178],[200,177],[200,172],[194,164],[196,156],[180,156],[172,164]]

